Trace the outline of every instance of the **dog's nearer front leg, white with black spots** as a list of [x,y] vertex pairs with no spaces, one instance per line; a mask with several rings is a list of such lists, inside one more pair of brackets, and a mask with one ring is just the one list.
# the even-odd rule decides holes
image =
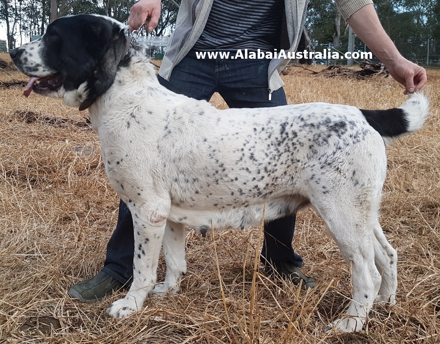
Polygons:
[[113,318],[125,318],[142,308],[145,298],[156,283],[159,253],[165,233],[165,216],[148,211],[145,207],[129,207],[134,225],[133,282],[127,296],[113,302],[107,309]]

